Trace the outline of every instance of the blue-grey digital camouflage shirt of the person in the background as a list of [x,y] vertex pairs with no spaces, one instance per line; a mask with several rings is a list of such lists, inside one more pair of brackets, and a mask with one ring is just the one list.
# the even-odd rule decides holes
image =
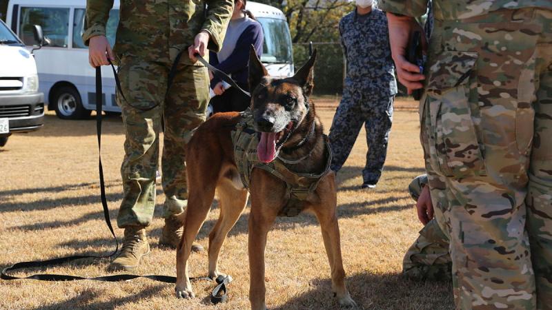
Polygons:
[[357,15],[355,10],[339,21],[339,34],[347,60],[346,87],[379,96],[396,94],[385,13],[374,8],[368,15]]

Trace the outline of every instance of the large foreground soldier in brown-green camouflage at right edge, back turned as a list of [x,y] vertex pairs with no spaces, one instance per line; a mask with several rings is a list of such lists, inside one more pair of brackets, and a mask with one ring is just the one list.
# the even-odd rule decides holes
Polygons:
[[426,78],[421,140],[451,242],[456,306],[548,309],[552,1],[433,1],[422,75],[404,48],[426,1],[383,0],[382,8],[399,80],[412,90]]

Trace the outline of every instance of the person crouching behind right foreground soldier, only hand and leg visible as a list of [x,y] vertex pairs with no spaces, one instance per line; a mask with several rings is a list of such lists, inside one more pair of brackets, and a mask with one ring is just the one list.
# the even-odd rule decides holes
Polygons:
[[[417,209],[420,203],[431,204],[431,197],[420,198],[423,191],[427,191],[427,176],[417,176],[410,185],[408,193],[417,202]],[[420,198],[420,200],[418,200]],[[422,202],[422,199],[428,199]],[[420,217],[420,211],[418,211]],[[449,238],[443,234],[436,218],[421,218],[424,228],[420,230],[420,236],[414,244],[406,251],[402,261],[402,272],[414,280],[451,280],[451,256],[449,255]]]

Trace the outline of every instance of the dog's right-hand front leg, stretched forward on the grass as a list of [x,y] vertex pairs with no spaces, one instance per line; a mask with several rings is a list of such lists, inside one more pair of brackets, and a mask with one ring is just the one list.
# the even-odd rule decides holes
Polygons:
[[[326,178],[326,180],[329,180],[329,178]],[[331,189],[332,186],[334,187],[333,190]],[[324,247],[326,247],[326,254],[330,262],[332,291],[335,293],[340,305],[347,308],[357,307],[357,304],[353,298],[351,298],[351,295],[349,295],[345,285],[345,271],[343,269],[339,225],[337,223],[337,197],[335,185],[329,184],[329,182],[321,182],[317,190],[325,193],[324,199],[321,200],[321,204],[313,207],[313,211],[320,223]]]

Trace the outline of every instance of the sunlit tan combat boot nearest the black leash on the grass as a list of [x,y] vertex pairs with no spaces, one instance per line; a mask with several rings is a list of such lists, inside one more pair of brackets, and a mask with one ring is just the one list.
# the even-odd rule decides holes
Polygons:
[[143,227],[126,227],[121,253],[109,265],[110,270],[130,270],[137,267],[142,256],[150,254],[150,245]]

